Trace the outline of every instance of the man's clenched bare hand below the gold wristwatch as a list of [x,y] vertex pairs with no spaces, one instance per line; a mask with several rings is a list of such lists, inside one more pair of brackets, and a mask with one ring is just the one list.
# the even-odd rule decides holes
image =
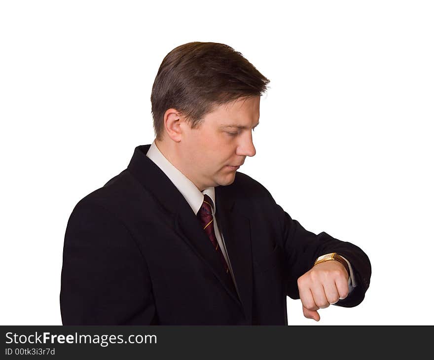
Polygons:
[[320,321],[318,309],[335,304],[348,295],[348,273],[339,261],[330,260],[315,265],[297,280],[303,315]]

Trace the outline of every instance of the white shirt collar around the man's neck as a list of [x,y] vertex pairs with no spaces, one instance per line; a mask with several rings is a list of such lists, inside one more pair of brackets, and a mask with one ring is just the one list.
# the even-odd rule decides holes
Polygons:
[[166,157],[161,153],[155,144],[155,140],[150,145],[146,156],[151,159],[155,165],[157,165],[173,182],[173,184],[187,201],[188,205],[190,205],[194,215],[197,215],[197,212],[203,204],[204,194],[208,195],[213,201],[213,214],[216,213],[216,192],[214,186],[207,187],[201,192],[191,180],[189,180],[184,174],[181,173],[181,171],[172,165],[169,160],[166,159]]

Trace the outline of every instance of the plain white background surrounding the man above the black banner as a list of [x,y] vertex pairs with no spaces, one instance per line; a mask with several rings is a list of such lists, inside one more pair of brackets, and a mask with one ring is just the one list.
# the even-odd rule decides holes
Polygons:
[[[289,324],[434,324],[431,1],[1,1],[1,324],[61,324],[75,204],[153,140],[164,56],[226,43],[268,77],[241,172],[308,230],[360,246],[355,308]],[[175,295],[174,295],[175,296]]]

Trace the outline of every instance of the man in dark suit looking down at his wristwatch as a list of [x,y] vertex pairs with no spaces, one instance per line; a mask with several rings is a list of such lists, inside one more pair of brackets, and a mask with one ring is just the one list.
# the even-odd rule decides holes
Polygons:
[[63,324],[288,324],[287,295],[316,321],[320,308],[362,301],[366,254],[305,230],[237,172],[255,155],[268,82],[224,44],[187,43],[164,58],[154,142],[72,211]]

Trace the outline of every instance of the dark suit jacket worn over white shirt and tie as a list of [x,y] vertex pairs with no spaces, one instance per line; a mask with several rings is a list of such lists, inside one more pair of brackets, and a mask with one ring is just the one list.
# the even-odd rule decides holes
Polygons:
[[358,305],[369,259],[357,246],[292,219],[259,182],[240,172],[216,187],[240,296],[190,206],[136,147],[128,168],[75,206],[65,235],[60,307],[75,324],[288,324],[286,297],[315,259],[338,252],[358,286],[336,305]]

